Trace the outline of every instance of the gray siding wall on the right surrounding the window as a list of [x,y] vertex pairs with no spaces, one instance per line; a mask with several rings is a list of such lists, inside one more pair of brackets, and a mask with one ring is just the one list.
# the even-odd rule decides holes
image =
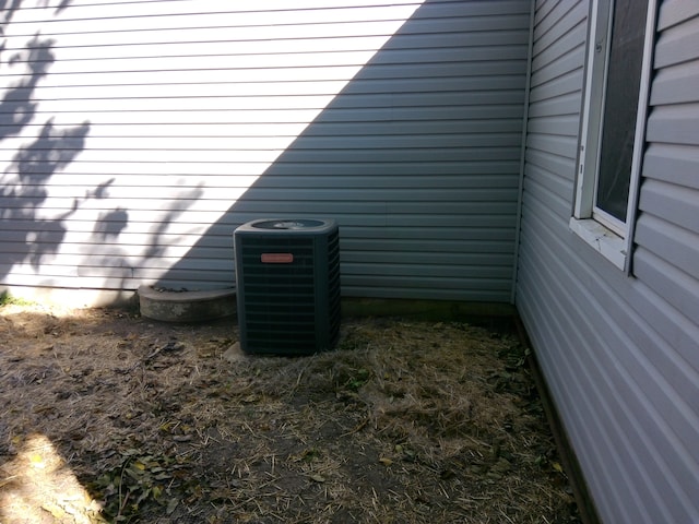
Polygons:
[[588,2],[536,4],[517,306],[605,523],[699,522],[699,9],[660,7],[633,274],[568,229]]

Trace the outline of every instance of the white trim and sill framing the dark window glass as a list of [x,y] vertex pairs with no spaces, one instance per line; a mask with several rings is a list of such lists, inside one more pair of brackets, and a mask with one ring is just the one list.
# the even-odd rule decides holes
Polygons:
[[[635,134],[633,156],[631,159],[631,179],[627,203],[626,224],[607,221],[594,210],[597,154],[601,134],[601,109],[604,104],[606,84],[606,59],[595,58],[597,50],[604,48],[608,56],[608,35],[611,33],[611,4],[613,0],[593,0],[590,9],[590,34],[585,60],[585,87],[578,153],[578,171],[572,216],[569,227],[583,241],[600,252],[616,267],[630,273],[631,243],[633,225],[638,207],[638,191],[645,142],[645,120],[652,71],[652,50],[655,33],[656,0],[649,0],[645,20],[645,40],[643,43],[643,63]],[[601,4],[605,9],[601,9]],[[588,144],[593,144],[588,146]],[[602,216],[601,216],[602,215]]]

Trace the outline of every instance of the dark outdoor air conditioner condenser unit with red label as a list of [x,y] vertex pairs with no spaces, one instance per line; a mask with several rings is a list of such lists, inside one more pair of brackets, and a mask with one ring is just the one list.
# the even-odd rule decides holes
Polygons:
[[234,233],[240,346],[310,355],[340,336],[340,235],[333,219],[260,219]]

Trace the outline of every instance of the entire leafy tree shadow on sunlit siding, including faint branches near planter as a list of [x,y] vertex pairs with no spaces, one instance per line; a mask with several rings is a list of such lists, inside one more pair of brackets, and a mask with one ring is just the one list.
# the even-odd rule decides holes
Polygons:
[[[49,3],[56,5],[48,7]],[[39,8],[51,10],[50,13],[56,15],[70,3],[71,0],[39,0]],[[84,257],[75,263],[76,276],[81,284],[95,287],[135,287],[142,266],[147,270],[146,262],[162,257],[168,246],[162,238],[167,235],[169,224],[202,196],[203,184],[182,191],[176,204],[169,206],[165,216],[149,231],[147,247],[142,254],[120,246],[120,237],[129,225],[130,216],[128,210],[109,205],[115,178],[96,181],[84,195],[54,209],[49,201],[50,189],[58,184],[51,178],[57,172],[70,170],[69,165],[85,148],[91,123],[84,121],[79,126],[62,127],[57,126],[54,118],[39,121],[42,110],[37,86],[56,62],[56,41],[37,34],[22,48],[11,49],[7,27],[22,4],[22,0],[0,0],[0,73],[9,79],[8,82],[12,82],[12,78],[17,79],[10,83],[0,98],[0,151],[12,150],[4,171],[0,172],[0,283],[12,283],[9,275],[21,265],[33,270],[27,272],[40,274],[42,266],[50,263],[61,250],[70,233],[70,221],[78,218],[75,213],[88,201],[102,200],[104,205],[90,206],[102,211],[93,225],[94,241],[81,246]],[[26,142],[17,145],[22,139]],[[12,279],[16,283],[16,278]],[[64,284],[66,281],[61,283]]]

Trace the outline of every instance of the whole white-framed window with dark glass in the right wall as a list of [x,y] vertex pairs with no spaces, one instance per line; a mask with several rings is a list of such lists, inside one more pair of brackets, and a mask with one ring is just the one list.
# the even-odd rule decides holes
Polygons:
[[593,0],[571,229],[628,271],[655,0]]

